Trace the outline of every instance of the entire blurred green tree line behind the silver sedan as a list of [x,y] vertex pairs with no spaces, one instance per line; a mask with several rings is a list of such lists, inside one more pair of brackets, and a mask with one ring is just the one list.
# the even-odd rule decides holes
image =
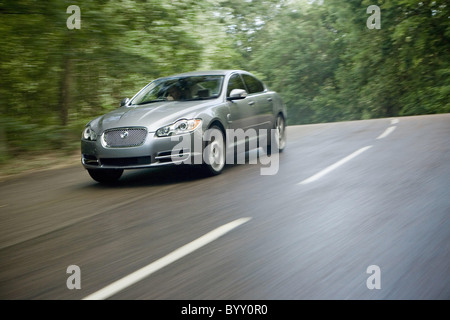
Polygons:
[[289,124],[450,112],[449,17],[444,0],[1,1],[0,163],[73,151],[123,97],[200,69],[254,72]]

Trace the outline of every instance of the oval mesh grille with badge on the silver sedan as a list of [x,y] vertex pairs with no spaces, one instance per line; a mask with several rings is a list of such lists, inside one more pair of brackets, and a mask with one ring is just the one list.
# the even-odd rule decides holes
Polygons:
[[144,143],[146,137],[145,128],[117,128],[103,134],[103,140],[110,148],[137,147]]

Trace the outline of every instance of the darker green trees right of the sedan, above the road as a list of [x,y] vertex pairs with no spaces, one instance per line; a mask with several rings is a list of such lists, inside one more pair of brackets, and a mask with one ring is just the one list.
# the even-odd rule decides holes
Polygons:
[[[381,29],[368,29],[369,5]],[[450,112],[445,1],[292,2],[264,26],[252,67],[291,124]]]

